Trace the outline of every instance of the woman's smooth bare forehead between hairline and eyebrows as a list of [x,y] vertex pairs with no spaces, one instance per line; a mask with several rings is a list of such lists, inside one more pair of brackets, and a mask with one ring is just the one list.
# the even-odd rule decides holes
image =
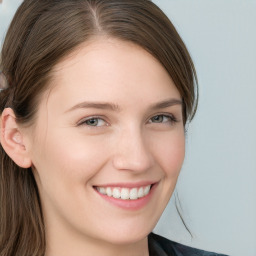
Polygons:
[[[53,72],[50,97],[68,105],[83,100],[140,101],[178,97],[167,71],[140,46],[100,38],[80,46]],[[61,100],[62,99],[62,100]]]

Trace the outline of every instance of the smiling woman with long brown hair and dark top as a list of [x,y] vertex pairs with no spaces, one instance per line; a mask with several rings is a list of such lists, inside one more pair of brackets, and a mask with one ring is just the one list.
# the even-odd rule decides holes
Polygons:
[[0,255],[217,255],[151,233],[196,73],[148,0],[25,0],[1,55]]

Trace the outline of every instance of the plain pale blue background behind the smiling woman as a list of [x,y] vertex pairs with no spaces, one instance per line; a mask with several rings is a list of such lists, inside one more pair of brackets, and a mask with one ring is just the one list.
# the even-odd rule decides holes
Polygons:
[[[197,68],[198,113],[177,185],[155,232],[232,256],[256,256],[256,1],[154,0]],[[0,38],[21,0],[0,5]]]

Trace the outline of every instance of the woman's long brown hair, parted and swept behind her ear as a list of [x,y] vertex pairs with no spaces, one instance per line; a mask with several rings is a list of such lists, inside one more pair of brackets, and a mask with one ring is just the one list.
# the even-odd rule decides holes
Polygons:
[[[194,65],[172,23],[149,0],[24,0],[1,52],[8,86],[0,92],[0,113],[11,107],[20,124],[32,122],[55,65],[98,35],[133,42],[155,56],[181,94],[184,124],[193,118]],[[2,146],[0,158],[0,256],[43,256],[43,214],[32,170],[18,167]]]

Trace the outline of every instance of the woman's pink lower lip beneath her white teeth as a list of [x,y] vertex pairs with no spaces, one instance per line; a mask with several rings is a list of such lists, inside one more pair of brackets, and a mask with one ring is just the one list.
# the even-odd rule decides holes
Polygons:
[[147,203],[150,201],[155,189],[156,189],[156,186],[157,184],[154,184],[152,185],[149,193],[144,196],[144,197],[141,197],[141,198],[138,198],[138,199],[135,199],[135,200],[123,200],[123,199],[120,199],[120,198],[114,198],[114,197],[110,197],[110,196],[107,196],[107,195],[103,195],[101,193],[99,193],[96,189],[95,191],[104,199],[106,200],[107,202],[119,207],[119,208],[122,208],[122,209],[125,209],[125,210],[133,210],[133,211],[137,211],[137,210],[140,210],[141,208],[143,208],[144,206],[147,205]]

